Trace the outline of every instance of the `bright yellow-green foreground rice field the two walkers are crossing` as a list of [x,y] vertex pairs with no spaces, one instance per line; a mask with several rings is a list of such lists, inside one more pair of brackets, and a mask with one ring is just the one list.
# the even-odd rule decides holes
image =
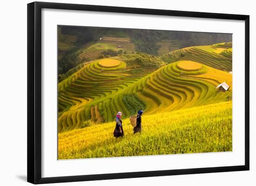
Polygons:
[[123,120],[125,136],[115,139],[115,122],[58,135],[58,159],[232,151],[232,102],[142,116],[141,134]]

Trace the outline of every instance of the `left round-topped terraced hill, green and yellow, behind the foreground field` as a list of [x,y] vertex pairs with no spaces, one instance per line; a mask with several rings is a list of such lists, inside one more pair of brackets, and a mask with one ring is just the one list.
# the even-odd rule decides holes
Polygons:
[[[102,122],[101,117],[100,119],[92,117],[95,112],[104,115],[105,122],[113,121],[116,110],[123,108],[122,101],[118,100],[120,98],[114,95],[151,73],[147,69],[141,69],[140,73],[136,74],[132,70],[140,67],[127,67],[122,61],[118,61],[119,64],[114,67],[100,65],[106,60],[110,59],[85,64],[79,71],[59,83],[59,132],[81,128],[83,122],[88,120]],[[117,60],[113,59],[113,61]],[[137,100],[140,103],[137,96],[130,95],[126,99]],[[143,103],[140,105],[142,106]]]

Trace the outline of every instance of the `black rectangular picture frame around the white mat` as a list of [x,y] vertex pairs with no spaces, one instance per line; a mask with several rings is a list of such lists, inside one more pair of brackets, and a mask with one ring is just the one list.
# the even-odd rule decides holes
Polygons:
[[[245,21],[245,163],[242,166],[202,167],[132,173],[107,173],[63,177],[41,176],[41,10],[65,9],[111,13],[133,13]],[[157,10],[130,7],[94,6],[49,2],[27,4],[27,181],[33,184],[110,180],[179,174],[249,170],[249,15]]]

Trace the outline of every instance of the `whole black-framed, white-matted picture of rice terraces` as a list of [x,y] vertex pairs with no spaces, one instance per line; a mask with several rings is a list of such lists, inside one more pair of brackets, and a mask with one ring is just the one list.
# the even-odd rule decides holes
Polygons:
[[249,170],[249,15],[33,2],[27,52],[28,182]]

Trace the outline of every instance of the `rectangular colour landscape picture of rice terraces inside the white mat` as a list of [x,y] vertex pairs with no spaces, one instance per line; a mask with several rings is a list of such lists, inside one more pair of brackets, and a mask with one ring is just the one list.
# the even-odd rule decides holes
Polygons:
[[58,35],[58,159],[232,151],[232,35],[72,26]]

